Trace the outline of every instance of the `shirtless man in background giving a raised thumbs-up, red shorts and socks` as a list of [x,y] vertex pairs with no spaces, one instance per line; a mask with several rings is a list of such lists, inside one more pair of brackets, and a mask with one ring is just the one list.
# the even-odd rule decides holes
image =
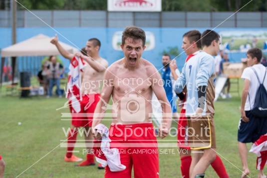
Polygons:
[[[52,44],[55,44],[58,51],[65,58],[72,60],[74,54],[66,51],[58,42],[57,36],[55,36],[51,40]],[[82,72],[82,84],[81,84],[81,93],[82,93],[82,101],[81,101],[81,111],[80,113],[88,113],[89,116],[86,117],[77,117],[72,116],[72,128],[68,135],[68,143],[75,144],[76,136],[78,132],[78,127],[84,127],[86,129],[85,140],[86,143],[92,143],[93,135],[90,131],[90,127],[92,125],[92,113],[95,110],[96,104],[99,101],[99,93],[100,93],[100,84],[104,77],[104,72],[108,66],[107,60],[100,57],[99,49],[100,49],[100,41],[97,38],[91,38],[86,42],[85,50],[88,56],[83,55],[82,53],[76,53],[76,55],[81,56],[85,62],[86,66]],[[70,111],[72,112],[72,105],[70,104]],[[94,155],[89,152],[92,147],[86,144],[87,147],[87,155],[86,160],[78,164],[78,166],[87,166],[87,165],[95,165],[94,163]],[[72,154],[73,146],[67,147],[67,153],[65,156],[65,161],[79,161],[80,158],[76,157]]]

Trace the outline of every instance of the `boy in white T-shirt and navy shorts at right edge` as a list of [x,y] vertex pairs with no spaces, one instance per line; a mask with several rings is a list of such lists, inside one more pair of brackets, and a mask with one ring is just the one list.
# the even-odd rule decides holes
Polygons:
[[[265,67],[261,64],[262,50],[259,48],[251,48],[247,52],[248,66],[242,73],[241,78],[244,79],[244,88],[241,98],[241,119],[238,129],[238,145],[241,161],[243,164],[242,177],[246,177],[250,170],[248,168],[248,149],[246,143],[255,142],[263,134],[267,133],[267,118],[256,118],[251,110],[254,108],[257,89],[260,86],[257,75],[265,88],[267,88],[267,74]],[[255,71],[254,71],[255,70]],[[256,73],[257,72],[257,75]],[[260,172],[259,172],[260,174]],[[262,177],[260,175],[260,177]]]

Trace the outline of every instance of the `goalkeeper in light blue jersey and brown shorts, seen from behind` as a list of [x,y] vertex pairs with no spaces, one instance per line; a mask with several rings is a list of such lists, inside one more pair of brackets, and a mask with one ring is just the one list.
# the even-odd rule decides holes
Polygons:
[[[186,116],[192,149],[190,177],[204,177],[205,170],[216,158],[214,129],[215,60],[220,46],[220,35],[213,30],[201,34],[202,51],[194,53],[184,65],[175,82],[175,91],[181,98],[187,87]],[[194,152],[203,150],[204,153]]]

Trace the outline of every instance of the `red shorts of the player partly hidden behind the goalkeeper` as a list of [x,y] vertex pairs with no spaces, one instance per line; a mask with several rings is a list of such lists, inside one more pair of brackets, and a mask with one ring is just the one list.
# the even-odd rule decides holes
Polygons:
[[180,148],[190,149],[189,146],[189,139],[187,133],[187,116],[186,116],[186,109],[181,109],[181,114],[178,119],[178,134],[177,134],[177,142]]

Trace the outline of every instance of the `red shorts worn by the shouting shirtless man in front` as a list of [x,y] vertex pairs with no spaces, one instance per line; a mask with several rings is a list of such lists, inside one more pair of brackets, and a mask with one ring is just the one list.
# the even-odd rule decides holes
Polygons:
[[122,171],[110,171],[105,168],[105,177],[130,178],[132,167],[134,177],[159,177],[158,144],[152,123],[116,124],[109,129],[110,147],[120,152]]

